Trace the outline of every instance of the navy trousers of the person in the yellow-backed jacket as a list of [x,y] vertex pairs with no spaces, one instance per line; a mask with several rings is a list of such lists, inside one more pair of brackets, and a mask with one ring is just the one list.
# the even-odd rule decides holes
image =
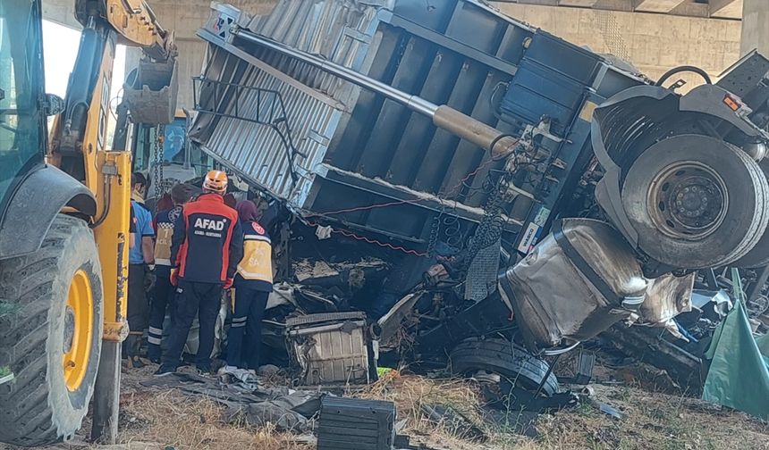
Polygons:
[[[235,308],[227,333],[227,365],[257,370],[262,345],[262,318],[270,293],[263,292],[264,289],[245,287],[244,284],[235,287]],[[247,351],[243,351],[244,345]]]

